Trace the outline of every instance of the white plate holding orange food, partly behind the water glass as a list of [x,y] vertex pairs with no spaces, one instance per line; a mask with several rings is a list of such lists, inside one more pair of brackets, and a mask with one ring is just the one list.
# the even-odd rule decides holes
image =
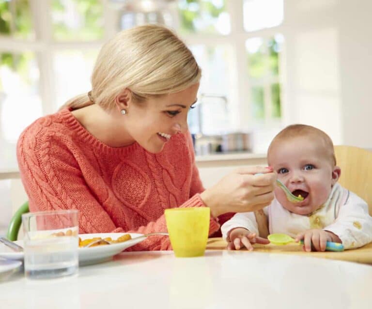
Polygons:
[[[118,237],[128,234],[128,233],[96,233],[96,234],[80,234],[79,237],[84,240],[87,238],[93,237],[111,237],[112,239],[118,239]],[[127,240],[123,243],[111,244],[107,246],[96,246],[91,248],[78,248],[79,252],[79,264],[80,265],[88,265],[88,264],[95,264],[101,263],[105,261],[109,261],[112,257],[126,248],[132,247],[144,239],[147,236],[143,234],[137,233],[129,233],[132,239]],[[17,245],[23,247],[23,241],[17,240],[15,242]],[[12,251],[11,248],[6,247],[5,245],[0,243],[0,258],[4,258],[7,260],[13,261],[23,261],[23,252],[15,252]]]

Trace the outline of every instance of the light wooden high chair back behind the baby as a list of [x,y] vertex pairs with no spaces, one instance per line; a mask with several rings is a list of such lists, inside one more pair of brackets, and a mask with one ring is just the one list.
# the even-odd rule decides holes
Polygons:
[[368,203],[372,216],[372,152],[353,146],[335,146],[340,185]]

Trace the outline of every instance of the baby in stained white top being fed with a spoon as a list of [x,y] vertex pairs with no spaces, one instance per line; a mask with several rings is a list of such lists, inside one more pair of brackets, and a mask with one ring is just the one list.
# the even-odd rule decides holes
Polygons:
[[[272,140],[267,161],[278,179],[295,196],[304,198],[290,202],[276,187],[275,199],[263,208],[269,233],[285,233],[296,242],[303,240],[305,251],[325,251],[327,241],[342,243],[345,249],[372,241],[368,205],[337,183],[341,170],[336,166],[332,140],[323,131],[303,124],[284,128]],[[267,244],[258,237],[266,236],[260,221],[250,212],[235,214],[225,222],[221,232],[228,248],[253,250],[252,243]]]

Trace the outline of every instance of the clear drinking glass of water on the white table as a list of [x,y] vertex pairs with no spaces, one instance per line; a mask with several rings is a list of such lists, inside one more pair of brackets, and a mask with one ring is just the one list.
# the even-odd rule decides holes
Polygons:
[[27,278],[78,273],[78,210],[27,213],[22,225]]

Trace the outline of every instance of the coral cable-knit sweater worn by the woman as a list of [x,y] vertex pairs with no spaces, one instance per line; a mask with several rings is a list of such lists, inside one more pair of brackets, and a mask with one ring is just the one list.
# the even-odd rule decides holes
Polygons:
[[[17,159],[30,210],[78,209],[80,233],[166,232],[165,209],[205,207],[189,134],[172,136],[158,154],[137,142],[109,147],[66,108],[25,129]],[[218,229],[211,218],[210,234]],[[152,236],[130,249],[171,246]]]

